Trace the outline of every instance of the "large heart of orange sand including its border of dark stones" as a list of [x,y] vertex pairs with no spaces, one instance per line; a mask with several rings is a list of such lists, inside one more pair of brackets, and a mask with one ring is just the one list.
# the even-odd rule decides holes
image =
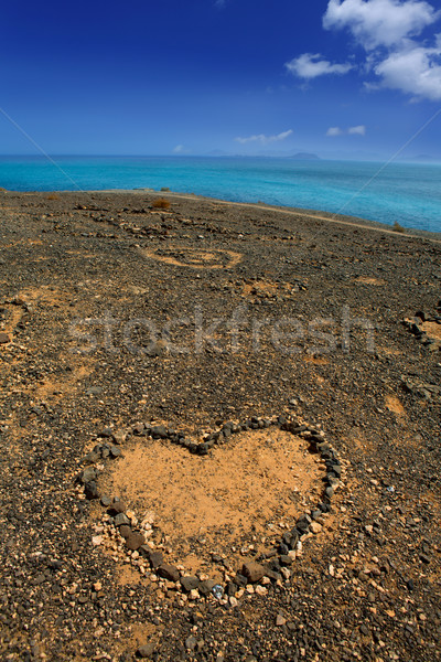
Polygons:
[[138,424],[123,453],[104,442],[92,455],[119,456],[99,478],[93,467],[79,476],[108,509],[98,533],[110,535],[95,543],[112,553],[125,541],[143,574],[190,590],[277,580],[321,531],[341,479],[323,433],[283,417],[228,423],[198,442]]

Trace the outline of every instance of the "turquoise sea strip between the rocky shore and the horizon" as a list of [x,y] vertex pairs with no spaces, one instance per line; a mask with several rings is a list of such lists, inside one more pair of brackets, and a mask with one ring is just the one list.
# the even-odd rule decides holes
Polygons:
[[0,157],[0,186],[169,186],[235,202],[314,209],[441,232],[441,164],[227,157]]

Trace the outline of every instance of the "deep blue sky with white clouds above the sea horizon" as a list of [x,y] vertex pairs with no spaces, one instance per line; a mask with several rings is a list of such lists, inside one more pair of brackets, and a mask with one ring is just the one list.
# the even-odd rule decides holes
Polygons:
[[[440,0],[2,8],[0,108],[51,154],[388,158],[441,108]],[[37,153],[0,113],[0,153]],[[441,158],[441,115],[402,156]]]

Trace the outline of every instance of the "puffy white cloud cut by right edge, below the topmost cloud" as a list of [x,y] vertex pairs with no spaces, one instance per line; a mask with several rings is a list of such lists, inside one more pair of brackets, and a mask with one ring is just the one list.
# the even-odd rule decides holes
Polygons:
[[415,46],[389,53],[374,71],[381,87],[431,100],[441,99],[441,44],[434,49]]

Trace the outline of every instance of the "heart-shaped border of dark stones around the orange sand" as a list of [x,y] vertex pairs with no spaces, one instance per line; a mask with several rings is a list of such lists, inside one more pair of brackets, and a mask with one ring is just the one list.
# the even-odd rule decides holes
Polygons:
[[[128,434],[114,431],[111,428],[106,428],[98,436],[101,439],[110,439],[109,442],[103,442],[95,446],[94,450],[83,458],[83,463],[88,465],[76,477],[76,483],[84,488],[84,493],[87,500],[99,499],[98,491],[98,470],[94,466],[98,461],[106,459],[117,459],[122,455],[120,446],[132,436],[146,436],[153,440],[161,439],[170,441],[185,448],[189,452],[197,456],[206,456],[215,447],[225,444],[235,434],[249,430],[259,430],[270,427],[278,427],[280,430],[288,431],[297,437],[305,439],[311,452],[319,453],[326,467],[324,478],[324,490],[320,503],[310,511],[304,512],[295,522],[291,531],[287,531],[277,542],[277,554],[259,558],[257,562],[244,563],[240,570],[237,572],[233,584],[236,583],[237,588],[247,584],[257,584],[263,577],[268,577],[271,581],[281,579],[280,569],[291,566],[295,553],[301,546],[304,536],[310,533],[311,524],[321,514],[331,511],[331,501],[334,496],[335,489],[342,481],[342,463],[336,450],[326,441],[323,430],[316,426],[311,426],[304,421],[300,421],[293,416],[273,416],[272,418],[262,418],[252,416],[244,423],[225,423],[219,429],[209,433],[203,441],[195,442],[190,439],[184,433],[168,428],[165,425],[151,425],[137,423],[132,426]],[[131,526],[130,520],[126,515],[126,508],[118,498],[101,496],[101,505],[107,509],[108,515],[112,517],[112,523],[116,530],[126,541],[126,546],[131,552],[139,552],[147,557],[152,572],[159,577],[180,584],[184,592],[195,591],[203,596],[214,595],[216,598],[223,598],[224,594],[230,588],[223,586],[213,579],[200,580],[193,576],[181,576],[176,566],[164,563],[162,554],[154,552],[147,544],[140,531],[136,531]],[[290,554],[291,553],[291,554]],[[262,565],[263,560],[269,560],[269,564]],[[232,583],[230,583],[232,584]]]

